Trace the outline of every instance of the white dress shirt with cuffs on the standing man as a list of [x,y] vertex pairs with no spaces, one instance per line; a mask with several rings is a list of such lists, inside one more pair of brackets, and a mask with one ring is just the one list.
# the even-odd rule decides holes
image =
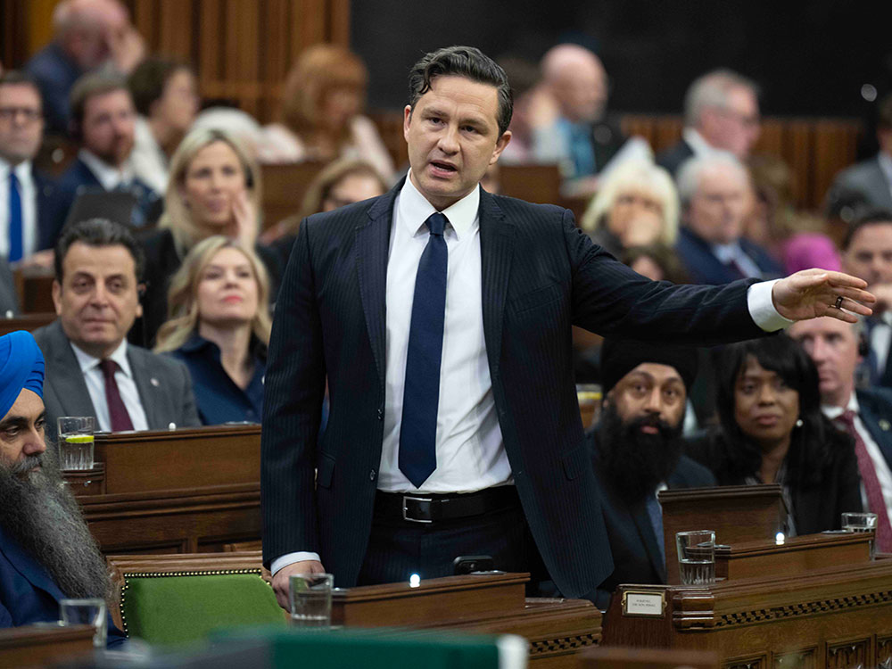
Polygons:
[[[384,440],[378,472],[378,490],[387,492],[418,492],[399,468],[400,425],[415,277],[429,237],[425,220],[436,210],[409,177],[393,206],[387,262]],[[437,468],[422,492],[471,492],[512,482],[483,339],[479,204],[480,189],[475,188],[442,211],[450,225],[443,234],[449,260],[437,407]],[[766,331],[792,323],[774,309],[774,283],[754,284],[747,291],[749,313]],[[270,571],[276,574],[294,562],[318,559],[318,554],[310,551],[288,553],[273,560]]]

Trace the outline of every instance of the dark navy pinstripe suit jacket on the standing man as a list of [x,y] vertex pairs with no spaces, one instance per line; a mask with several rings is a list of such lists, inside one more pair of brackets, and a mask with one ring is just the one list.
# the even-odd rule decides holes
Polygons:
[[[314,550],[340,586],[356,581],[371,525],[384,432],[387,253],[401,186],[301,223],[269,347],[264,561]],[[480,245],[483,329],[505,449],[545,565],[575,597],[613,565],[582,438],[570,326],[666,343],[761,331],[747,311],[747,282],[651,282],[592,244],[558,207],[483,192]],[[326,376],[330,413],[317,446]]]

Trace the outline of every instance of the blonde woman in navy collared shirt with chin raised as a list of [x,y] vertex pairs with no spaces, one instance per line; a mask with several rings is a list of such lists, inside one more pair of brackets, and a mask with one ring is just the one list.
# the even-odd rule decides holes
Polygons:
[[181,359],[204,425],[259,423],[271,318],[266,269],[249,246],[214,235],[170,280],[169,320],[155,351]]

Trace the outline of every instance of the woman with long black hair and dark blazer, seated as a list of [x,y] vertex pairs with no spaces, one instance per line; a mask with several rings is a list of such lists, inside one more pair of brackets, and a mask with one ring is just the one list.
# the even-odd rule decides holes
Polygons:
[[860,511],[854,444],[821,413],[818,373],[787,335],[726,348],[716,370],[720,426],[690,444],[719,485],[780,483],[789,534],[835,530]]

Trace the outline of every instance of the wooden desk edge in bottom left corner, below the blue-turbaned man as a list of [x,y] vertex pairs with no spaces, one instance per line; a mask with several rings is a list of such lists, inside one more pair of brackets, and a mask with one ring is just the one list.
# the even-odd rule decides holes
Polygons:
[[45,667],[93,652],[90,625],[24,625],[0,629],[0,666]]

